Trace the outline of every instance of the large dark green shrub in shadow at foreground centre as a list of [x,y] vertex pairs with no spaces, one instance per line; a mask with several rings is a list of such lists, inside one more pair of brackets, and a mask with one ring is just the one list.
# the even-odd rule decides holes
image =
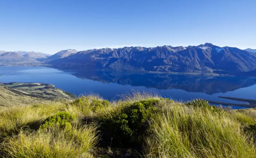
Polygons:
[[141,100],[124,109],[107,122],[111,129],[114,140],[120,145],[131,145],[138,142],[140,134],[148,127],[148,120],[157,113],[155,105],[159,102],[156,99]]

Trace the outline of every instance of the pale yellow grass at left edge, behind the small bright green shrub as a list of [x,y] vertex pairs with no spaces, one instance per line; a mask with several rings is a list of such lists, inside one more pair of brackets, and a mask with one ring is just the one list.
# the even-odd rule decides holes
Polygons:
[[24,127],[37,129],[46,117],[63,109],[61,102],[4,108],[0,111],[0,139],[15,135]]

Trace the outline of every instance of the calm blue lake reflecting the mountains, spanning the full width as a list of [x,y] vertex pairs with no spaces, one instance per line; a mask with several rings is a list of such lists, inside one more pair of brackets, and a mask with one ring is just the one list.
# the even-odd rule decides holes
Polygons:
[[[256,100],[256,78],[200,77],[172,74],[61,71],[47,67],[0,66],[0,81],[41,82],[53,84],[77,96],[98,93],[107,100],[132,90],[152,91],[175,100],[202,98],[230,103],[243,103],[218,98],[228,96]],[[233,106],[233,108],[240,108]]]

